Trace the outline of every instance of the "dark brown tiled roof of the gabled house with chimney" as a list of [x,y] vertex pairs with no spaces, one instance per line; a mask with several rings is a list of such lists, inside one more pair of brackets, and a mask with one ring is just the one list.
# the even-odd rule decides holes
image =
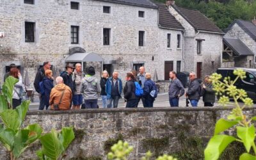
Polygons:
[[175,4],[172,7],[184,18],[186,19],[196,31],[210,31],[220,34],[224,34],[220,28],[218,28],[211,20],[205,17],[204,14],[198,10],[188,10],[186,8],[181,8]]

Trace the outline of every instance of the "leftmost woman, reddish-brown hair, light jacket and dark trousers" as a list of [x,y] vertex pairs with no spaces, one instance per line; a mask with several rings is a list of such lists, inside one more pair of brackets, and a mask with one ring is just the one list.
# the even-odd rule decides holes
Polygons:
[[21,92],[22,92],[22,76],[18,68],[11,68],[10,76],[13,76],[19,79],[19,82],[15,83],[13,88],[13,97],[12,97],[12,109],[17,108],[21,104]]

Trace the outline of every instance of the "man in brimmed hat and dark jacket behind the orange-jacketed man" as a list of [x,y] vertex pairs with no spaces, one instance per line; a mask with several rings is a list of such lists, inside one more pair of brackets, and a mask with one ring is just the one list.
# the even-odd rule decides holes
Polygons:
[[63,78],[63,83],[69,86],[69,88],[72,90],[72,94],[74,94],[74,83],[72,79],[72,73],[74,71],[74,65],[72,63],[68,63],[66,65],[66,70],[63,72],[60,76]]

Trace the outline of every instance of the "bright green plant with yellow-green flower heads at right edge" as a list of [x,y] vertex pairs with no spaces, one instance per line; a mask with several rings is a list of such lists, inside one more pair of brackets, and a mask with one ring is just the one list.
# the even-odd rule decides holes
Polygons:
[[[242,154],[240,160],[256,159],[256,146],[255,146],[255,127],[252,124],[252,120],[256,120],[256,116],[248,118],[243,114],[243,109],[246,106],[252,106],[253,100],[248,98],[247,93],[242,89],[237,89],[234,85],[238,79],[244,79],[246,72],[242,69],[234,70],[236,79],[232,81],[230,77],[225,77],[223,82],[220,81],[220,74],[212,74],[212,84],[217,95],[220,95],[219,103],[224,106],[227,104],[234,104],[236,108],[232,109],[230,115],[227,116],[227,120],[220,118],[216,122],[214,129],[214,136],[212,136],[207,147],[204,150],[205,159],[218,159],[225,150],[225,148],[233,141],[243,143],[246,148],[246,153]],[[234,103],[230,103],[229,99],[232,97]],[[239,106],[238,100],[244,102],[243,106]],[[236,127],[237,137],[221,134],[223,131]],[[253,148],[254,155],[250,154],[250,150]]]

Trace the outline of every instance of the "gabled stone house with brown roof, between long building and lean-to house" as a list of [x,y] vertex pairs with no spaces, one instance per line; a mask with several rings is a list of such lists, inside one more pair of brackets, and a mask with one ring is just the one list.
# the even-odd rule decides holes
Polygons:
[[166,1],[169,12],[185,28],[184,70],[195,71],[199,78],[221,67],[224,33],[197,10],[188,10]]

